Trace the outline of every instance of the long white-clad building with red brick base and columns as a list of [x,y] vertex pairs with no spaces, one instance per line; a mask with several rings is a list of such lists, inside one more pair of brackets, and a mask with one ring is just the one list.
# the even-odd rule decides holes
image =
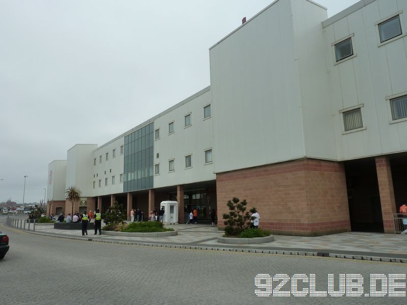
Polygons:
[[196,207],[223,225],[238,197],[275,233],[394,232],[407,196],[403,12],[362,0],[327,18],[312,1],[273,2],[210,48],[210,86],[100,147],[71,148],[65,187],[81,189],[82,209],[146,214],[177,200],[180,222]]

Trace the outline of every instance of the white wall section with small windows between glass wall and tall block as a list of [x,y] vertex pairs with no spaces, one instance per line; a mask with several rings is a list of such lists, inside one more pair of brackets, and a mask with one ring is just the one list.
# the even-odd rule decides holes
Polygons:
[[[154,120],[154,130],[160,130],[159,139],[154,140],[154,164],[160,167],[160,173],[154,175],[154,188],[216,179],[213,163],[205,164],[205,150],[213,148],[213,117],[203,118],[203,107],[207,105],[211,105],[210,90]],[[185,127],[188,114],[191,115],[191,126]],[[174,132],[169,134],[168,124],[171,122]],[[191,155],[191,168],[185,168],[188,155]],[[216,160],[215,153],[212,156]],[[175,170],[171,172],[169,160],[174,160]]]

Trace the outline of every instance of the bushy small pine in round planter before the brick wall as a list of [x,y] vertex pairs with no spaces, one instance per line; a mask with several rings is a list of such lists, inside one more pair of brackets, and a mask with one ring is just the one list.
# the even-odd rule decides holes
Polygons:
[[[240,202],[239,198],[233,197],[232,200],[227,201],[229,208],[229,214],[223,214],[225,228],[225,235],[237,236],[244,231],[249,225],[249,221],[252,219],[249,212],[246,211],[247,201],[244,199]],[[251,213],[254,213],[256,209],[253,207],[250,209]]]

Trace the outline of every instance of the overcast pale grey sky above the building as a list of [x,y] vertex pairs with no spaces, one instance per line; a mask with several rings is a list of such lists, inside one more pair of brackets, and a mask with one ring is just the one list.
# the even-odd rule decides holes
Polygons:
[[[356,0],[318,0],[332,16]],[[0,0],[0,202],[210,85],[209,47],[272,0]]]

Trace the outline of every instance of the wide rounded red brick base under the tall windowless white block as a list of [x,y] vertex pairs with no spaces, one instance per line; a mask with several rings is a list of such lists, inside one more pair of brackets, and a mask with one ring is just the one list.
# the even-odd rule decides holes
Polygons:
[[232,197],[257,208],[260,228],[275,234],[351,230],[345,171],[337,162],[303,159],[216,175],[218,225]]

